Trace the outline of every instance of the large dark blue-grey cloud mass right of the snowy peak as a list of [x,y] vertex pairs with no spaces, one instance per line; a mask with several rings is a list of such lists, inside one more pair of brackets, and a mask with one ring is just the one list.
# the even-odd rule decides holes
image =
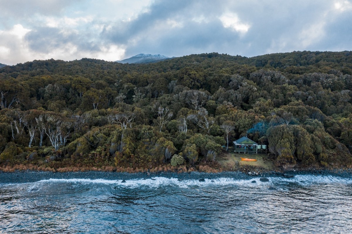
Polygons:
[[[175,2],[174,2],[175,4]],[[314,46],[301,44],[302,30],[327,20],[325,14],[331,1],[184,1],[170,6],[169,1],[158,1],[150,11],[137,19],[116,24],[105,37],[115,43],[127,44],[126,57],[135,53],[169,53],[169,56],[199,52],[222,52],[256,56],[269,52],[309,50]],[[244,35],[224,28],[218,17],[233,12],[251,27]],[[196,24],[195,16],[204,15],[209,22]],[[170,29],[155,35],[158,22],[167,19],[184,20],[183,28]],[[351,17],[349,17],[351,18]],[[351,24],[349,24],[351,25]],[[336,25],[334,25],[336,27]],[[344,27],[338,24],[338,27]],[[137,45],[129,45],[134,38],[143,38]],[[158,38],[155,41],[155,38]],[[148,51],[146,51],[148,50]],[[171,53],[171,54],[170,54]]]

